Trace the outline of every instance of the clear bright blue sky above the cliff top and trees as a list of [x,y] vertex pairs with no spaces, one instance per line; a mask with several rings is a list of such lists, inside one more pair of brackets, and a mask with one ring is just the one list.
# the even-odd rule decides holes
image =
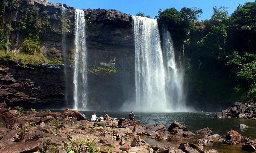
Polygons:
[[150,14],[151,18],[157,16],[159,8],[162,11],[167,8],[174,7],[177,11],[180,11],[182,7],[192,8],[193,6],[202,9],[203,13],[201,18],[210,19],[213,14],[212,8],[217,6],[229,7],[229,16],[237,9],[239,4],[246,2],[254,2],[255,0],[48,0],[54,3],[67,4],[75,7],[76,9],[106,9],[117,10],[126,14],[135,16],[138,12],[145,15]]

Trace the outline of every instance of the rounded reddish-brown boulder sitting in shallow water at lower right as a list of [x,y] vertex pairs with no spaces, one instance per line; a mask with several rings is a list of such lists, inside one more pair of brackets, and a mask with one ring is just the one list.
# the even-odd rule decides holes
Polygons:
[[226,143],[227,144],[239,144],[245,142],[244,137],[239,134],[237,131],[231,130],[226,134]]

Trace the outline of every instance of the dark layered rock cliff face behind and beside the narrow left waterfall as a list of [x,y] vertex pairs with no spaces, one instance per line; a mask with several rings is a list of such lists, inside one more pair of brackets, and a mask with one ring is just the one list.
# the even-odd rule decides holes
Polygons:
[[[63,61],[63,65],[30,63],[24,67],[9,62],[0,66],[0,107],[72,108],[73,66],[70,63],[74,61],[75,8],[63,5],[66,8],[64,34],[61,4],[41,0],[18,2],[17,9],[6,12],[5,18],[15,27],[22,19],[22,11],[29,6],[51,25],[51,30],[41,36],[41,52],[48,59]],[[135,91],[131,16],[115,10],[87,9],[84,12],[87,20],[87,108],[117,110],[126,100],[133,100]],[[13,52],[20,52],[24,40],[23,32],[17,29],[10,36]],[[100,63],[113,59],[116,72],[108,72],[108,67]]]

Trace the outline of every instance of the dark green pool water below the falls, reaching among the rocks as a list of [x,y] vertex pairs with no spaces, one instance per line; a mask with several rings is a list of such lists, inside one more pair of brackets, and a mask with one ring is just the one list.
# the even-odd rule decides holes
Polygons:
[[[53,111],[53,110],[52,110]],[[54,111],[53,111],[54,112]],[[93,115],[93,111],[79,111],[81,114],[86,112],[88,119]],[[104,116],[108,114],[112,118],[119,120],[120,118],[129,118],[130,112],[96,112],[97,117],[101,115]],[[251,137],[251,139],[256,138],[256,121],[246,120],[246,119],[236,119],[236,118],[215,118],[216,113],[207,112],[196,112],[196,113],[145,113],[145,112],[134,112],[135,119],[140,120],[141,125],[155,125],[156,123],[164,124],[168,128],[173,121],[177,121],[180,124],[186,126],[188,131],[194,132],[202,128],[210,128],[210,130],[215,133],[221,134],[222,138],[226,139],[226,133],[230,130],[237,131],[242,134],[244,138]],[[240,129],[239,125],[245,124],[249,126],[246,129]],[[169,136],[174,136],[165,132]],[[194,137],[181,137],[182,141],[159,141],[152,139],[151,136],[140,136],[147,143],[157,144],[157,145],[168,145],[170,147],[177,147],[182,142],[190,142],[196,144],[196,138],[202,138],[202,135],[195,135]],[[154,137],[154,136],[152,136]],[[223,153],[249,153],[242,150],[242,144],[239,145],[226,145],[224,142],[220,142],[217,138],[213,138],[213,143],[208,143],[203,146],[205,150],[215,149],[218,152]]]

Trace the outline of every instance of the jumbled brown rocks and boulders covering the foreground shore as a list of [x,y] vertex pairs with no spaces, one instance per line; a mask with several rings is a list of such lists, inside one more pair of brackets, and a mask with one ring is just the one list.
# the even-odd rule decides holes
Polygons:
[[[217,153],[217,150],[203,149],[205,143],[213,142],[209,128],[189,132],[178,122],[173,122],[167,131],[174,136],[169,137],[162,124],[141,126],[140,121],[106,117],[107,133],[102,127],[95,126],[78,111],[53,113],[51,111],[28,111],[25,114],[11,109],[0,109],[0,153],[66,153],[66,152],[116,152],[116,153]],[[157,140],[180,141],[179,136],[201,134],[197,144],[181,143],[174,148],[151,145],[139,135],[149,135]],[[219,141],[225,141],[219,138]],[[226,135],[227,144],[244,143],[243,149],[253,151],[255,139],[243,138],[238,132],[231,130]],[[254,150],[255,151],[255,150]]]

